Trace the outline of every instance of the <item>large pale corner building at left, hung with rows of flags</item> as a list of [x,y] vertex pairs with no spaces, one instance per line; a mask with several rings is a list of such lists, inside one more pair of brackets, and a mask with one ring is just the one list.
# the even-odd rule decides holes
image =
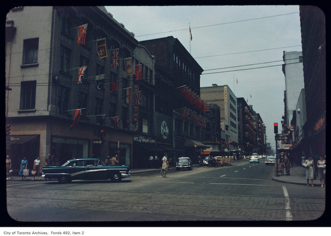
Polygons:
[[[142,65],[141,80],[124,59]],[[134,166],[133,137],[154,134],[154,57],[104,7],[9,11],[6,87],[6,152],[16,168],[23,156],[31,169],[47,154],[57,164],[119,155]]]

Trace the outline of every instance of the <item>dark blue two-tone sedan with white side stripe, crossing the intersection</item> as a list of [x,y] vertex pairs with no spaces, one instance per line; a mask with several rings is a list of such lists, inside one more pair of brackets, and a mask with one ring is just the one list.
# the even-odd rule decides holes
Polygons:
[[80,158],[67,160],[62,166],[44,166],[41,177],[56,178],[60,183],[74,179],[121,181],[130,176],[130,167],[125,165],[108,166],[98,158]]

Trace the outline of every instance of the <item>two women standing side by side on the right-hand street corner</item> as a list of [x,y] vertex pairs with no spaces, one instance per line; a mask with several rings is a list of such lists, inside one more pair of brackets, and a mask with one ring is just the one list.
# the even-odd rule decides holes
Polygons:
[[311,186],[313,187],[313,179],[314,179],[314,173],[316,172],[317,168],[317,177],[321,181],[321,187],[325,187],[325,167],[326,167],[326,160],[324,157],[319,157],[319,160],[317,160],[316,167],[314,164],[314,160],[312,159],[311,155],[308,157],[308,159],[303,156],[302,157],[302,166],[306,168],[306,179],[307,179],[307,186],[309,186],[309,180],[311,182]]

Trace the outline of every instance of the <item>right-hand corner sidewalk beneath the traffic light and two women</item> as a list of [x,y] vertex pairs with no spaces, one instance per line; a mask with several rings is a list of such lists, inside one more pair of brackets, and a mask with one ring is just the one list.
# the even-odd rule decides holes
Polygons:
[[[286,171],[284,170],[284,174],[286,175]],[[301,165],[294,163],[293,167],[290,168],[290,176],[282,176],[279,175],[272,177],[272,180],[282,183],[291,183],[291,184],[300,184],[300,185],[307,185],[306,179],[306,169],[303,168]],[[309,186],[311,181],[309,180]],[[321,181],[317,177],[317,179],[313,180],[314,186],[321,186]]]

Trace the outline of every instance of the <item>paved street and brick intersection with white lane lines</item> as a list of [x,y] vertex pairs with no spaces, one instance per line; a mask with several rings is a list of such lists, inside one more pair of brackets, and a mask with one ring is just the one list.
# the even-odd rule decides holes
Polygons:
[[7,211],[18,221],[314,220],[325,188],[272,181],[273,166],[235,163],[140,174],[120,183],[7,181]]

